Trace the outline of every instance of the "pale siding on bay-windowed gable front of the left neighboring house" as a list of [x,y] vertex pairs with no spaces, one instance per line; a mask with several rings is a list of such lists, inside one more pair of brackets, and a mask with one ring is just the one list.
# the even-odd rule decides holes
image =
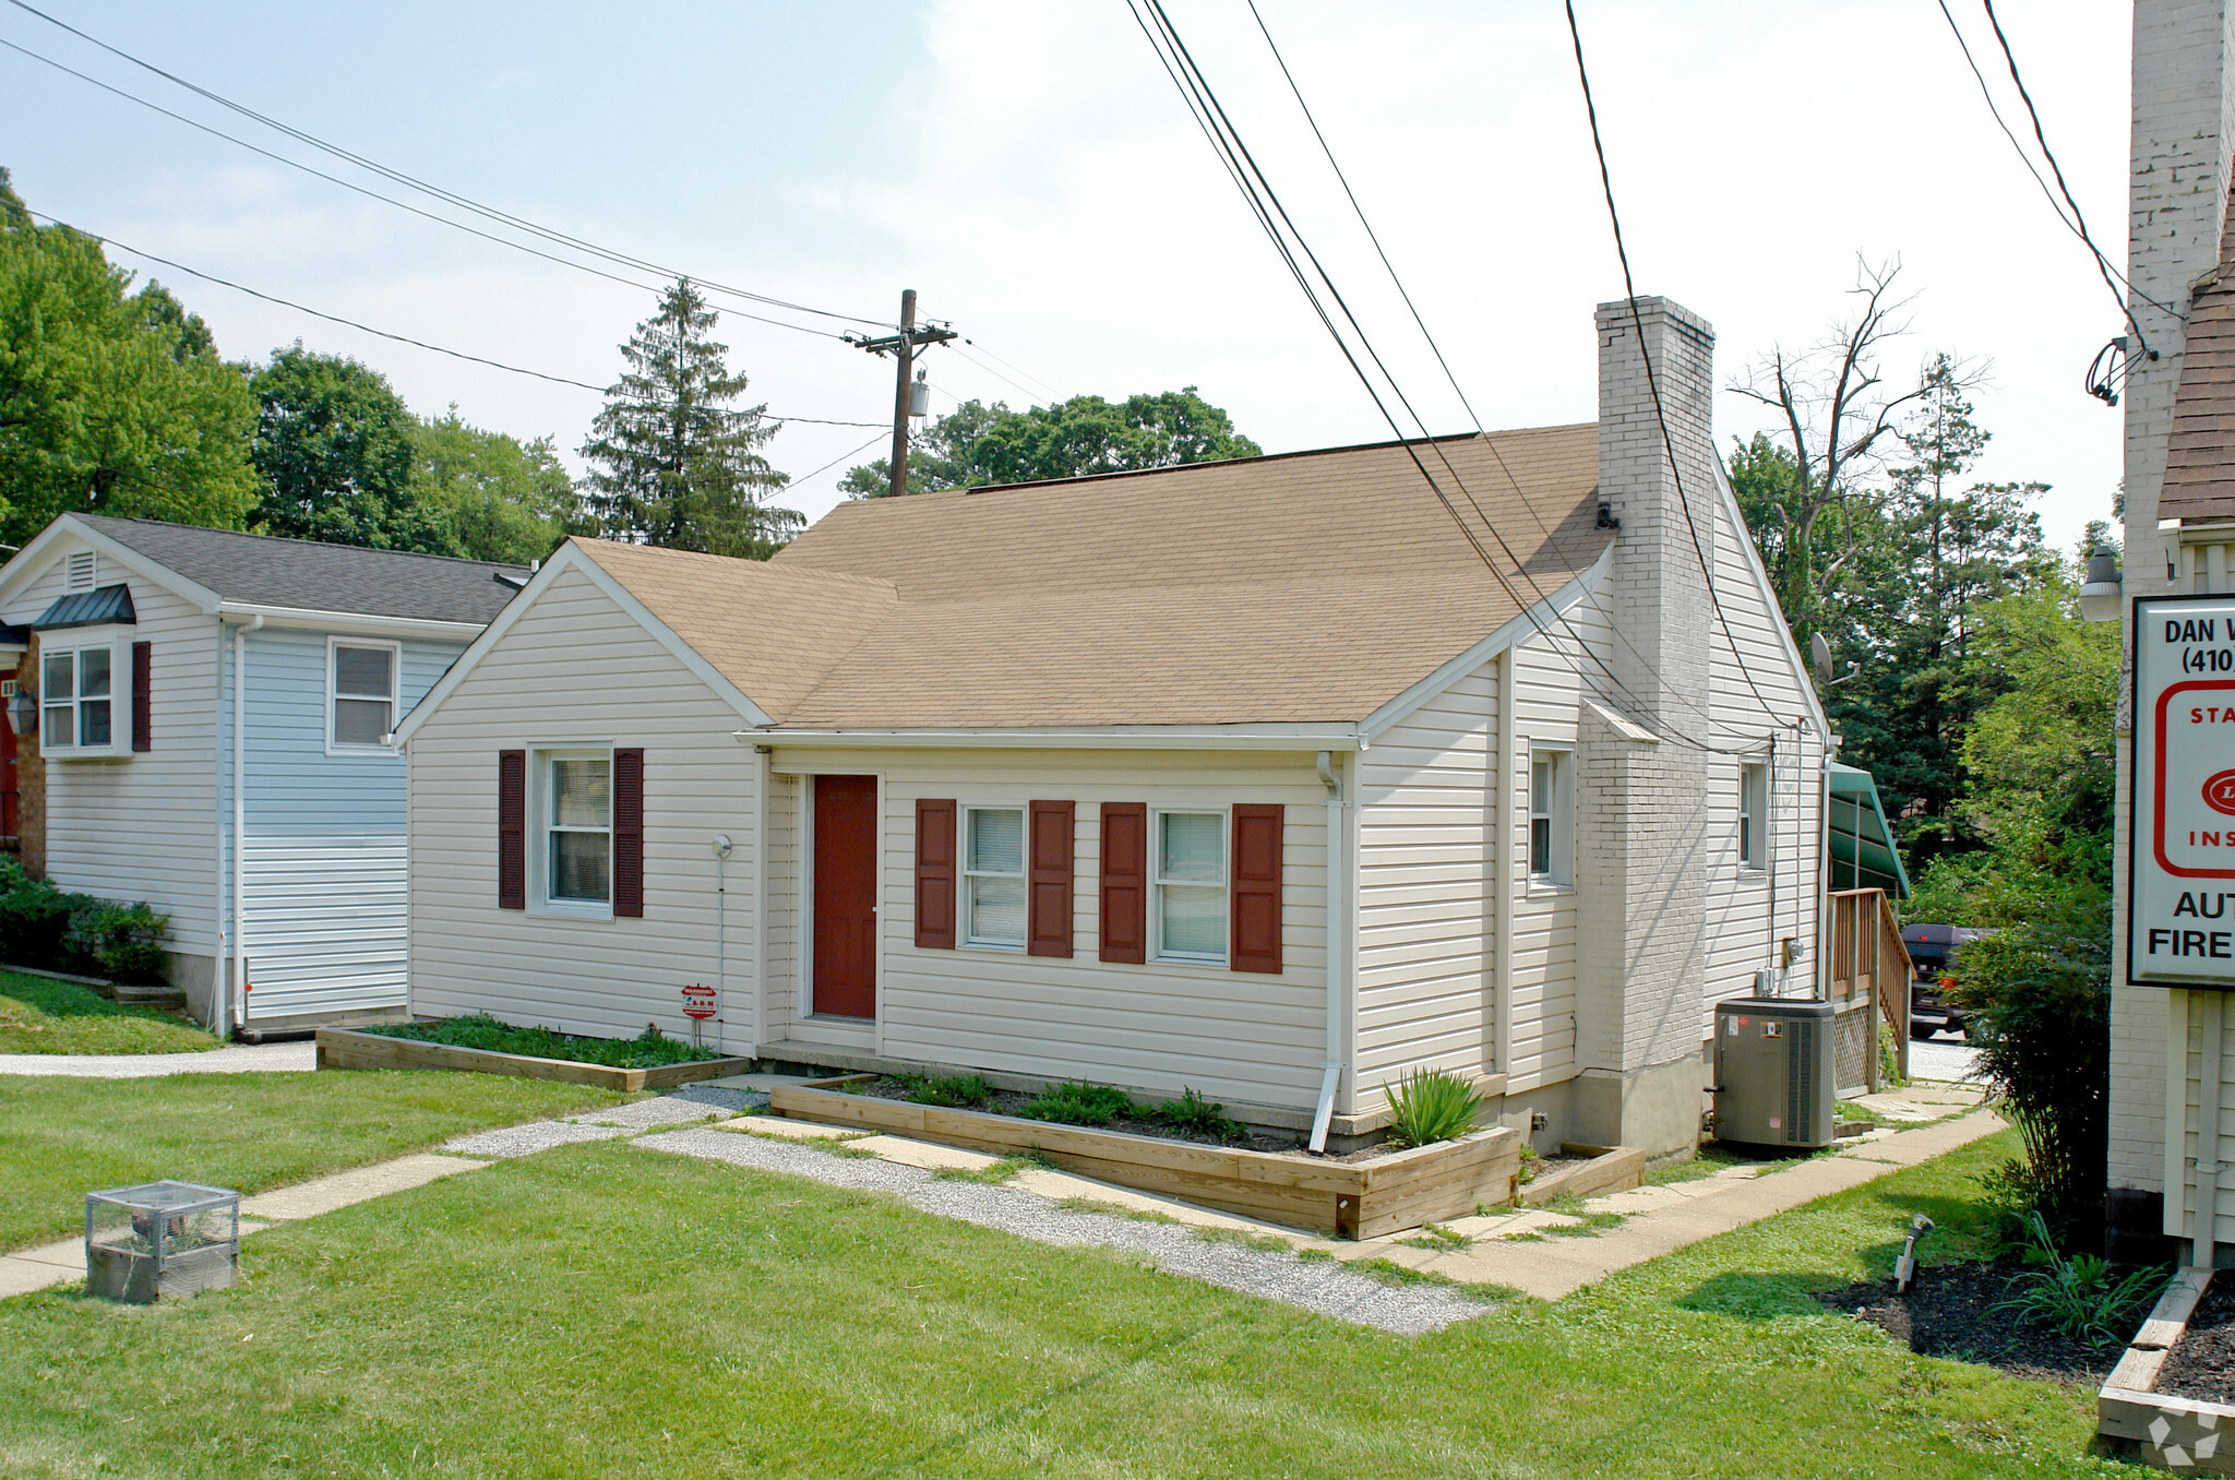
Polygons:
[[[63,539],[56,561],[7,610],[27,624],[63,595],[63,566],[85,545]],[[170,914],[168,946],[217,950],[217,617],[110,559],[98,584],[132,588],[150,662],[154,749],[125,760],[47,760],[47,876],[103,899],[145,899]],[[67,633],[58,635],[67,642]],[[36,682],[36,680],[34,680]],[[130,744],[132,709],[116,733]]]

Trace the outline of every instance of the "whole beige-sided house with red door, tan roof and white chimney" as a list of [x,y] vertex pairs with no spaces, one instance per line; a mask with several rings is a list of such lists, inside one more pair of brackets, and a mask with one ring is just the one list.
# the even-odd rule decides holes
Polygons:
[[572,541],[400,729],[411,1011],[1198,1089],[1415,1066],[1696,1145],[1712,1002],[1815,988],[1826,724],[1710,440],[1596,425],[847,503],[769,563]]

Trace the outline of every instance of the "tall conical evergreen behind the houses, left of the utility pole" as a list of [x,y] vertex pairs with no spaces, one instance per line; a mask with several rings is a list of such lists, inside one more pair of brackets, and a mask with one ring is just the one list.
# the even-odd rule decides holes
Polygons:
[[708,338],[715,317],[679,277],[637,324],[621,347],[628,369],[581,447],[581,494],[610,539],[764,561],[805,519],[769,503],[789,483],[758,452],[778,423],[764,405],[733,405],[746,380]]

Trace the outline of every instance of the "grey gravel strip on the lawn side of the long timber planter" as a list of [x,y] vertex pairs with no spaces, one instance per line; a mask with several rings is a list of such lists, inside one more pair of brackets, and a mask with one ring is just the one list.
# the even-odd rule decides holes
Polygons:
[[1366,1274],[1352,1274],[1332,1261],[1303,1261],[1287,1252],[1274,1254],[1236,1243],[1209,1243],[1191,1230],[1171,1223],[1064,1212],[1030,1192],[952,1178],[941,1180],[916,1167],[874,1158],[840,1158],[784,1140],[740,1136],[738,1131],[688,1129],[639,1136],[637,1145],[682,1156],[704,1156],[706,1160],[722,1160],[735,1167],[807,1176],[831,1187],[892,1192],[919,1212],[997,1227],[1037,1243],[1126,1250],[1144,1254],[1155,1268],[1171,1274],[1185,1274],[1225,1290],[1258,1294],[1408,1337],[1442,1330],[1484,1310],[1480,1299],[1466,1299],[1444,1285],[1390,1288]]

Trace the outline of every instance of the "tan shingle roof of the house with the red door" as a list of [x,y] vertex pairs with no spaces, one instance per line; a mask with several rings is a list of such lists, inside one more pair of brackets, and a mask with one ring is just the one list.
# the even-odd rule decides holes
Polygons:
[[[1594,425],[1421,461],[1527,599],[1605,550]],[[586,548],[791,729],[1354,722],[1520,615],[1397,445],[869,499],[744,572]]]

